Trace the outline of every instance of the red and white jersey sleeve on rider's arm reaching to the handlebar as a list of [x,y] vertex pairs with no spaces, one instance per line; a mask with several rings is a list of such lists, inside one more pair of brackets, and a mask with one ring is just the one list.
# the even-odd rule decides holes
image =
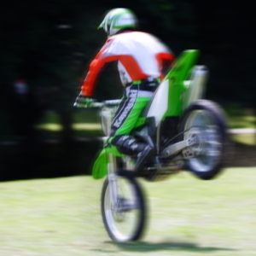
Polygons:
[[84,96],[92,96],[96,87],[96,79],[99,76],[102,67],[107,62],[117,61],[118,55],[113,54],[113,40],[108,39],[102,49],[97,53],[93,61],[90,62],[89,71],[84,79],[84,84],[81,87]]

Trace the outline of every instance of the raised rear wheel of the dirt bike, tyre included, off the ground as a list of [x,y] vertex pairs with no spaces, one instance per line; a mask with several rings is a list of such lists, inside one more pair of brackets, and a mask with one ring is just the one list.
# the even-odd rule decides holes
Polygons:
[[204,180],[218,176],[228,143],[226,118],[218,104],[208,100],[192,103],[183,114],[179,132],[181,140],[191,143],[183,150],[185,168]]

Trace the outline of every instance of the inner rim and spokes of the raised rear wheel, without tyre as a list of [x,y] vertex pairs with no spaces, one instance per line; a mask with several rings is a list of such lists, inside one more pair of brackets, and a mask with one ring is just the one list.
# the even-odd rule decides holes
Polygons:
[[209,172],[218,163],[222,154],[222,137],[212,114],[206,110],[195,110],[189,114],[184,127],[184,139],[196,143],[189,147],[193,158],[188,160],[190,166],[197,172]]

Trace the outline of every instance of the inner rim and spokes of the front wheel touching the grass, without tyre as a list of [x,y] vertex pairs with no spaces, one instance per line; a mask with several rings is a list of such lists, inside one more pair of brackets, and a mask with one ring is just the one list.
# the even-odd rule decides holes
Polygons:
[[141,215],[141,206],[131,182],[118,177],[118,199],[110,199],[109,184],[104,196],[104,214],[108,224],[109,235],[115,241],[131,241],[137,232]]

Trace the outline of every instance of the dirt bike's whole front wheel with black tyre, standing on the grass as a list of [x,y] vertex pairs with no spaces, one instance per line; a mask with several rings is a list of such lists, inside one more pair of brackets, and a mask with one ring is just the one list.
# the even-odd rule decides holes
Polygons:
[[110,196],[108,177],[102,187],[102,219],[113,241],[137,241],[146,226],[146,203],[143,189],[132,172],[122,170],[115,177],[116,195]]

